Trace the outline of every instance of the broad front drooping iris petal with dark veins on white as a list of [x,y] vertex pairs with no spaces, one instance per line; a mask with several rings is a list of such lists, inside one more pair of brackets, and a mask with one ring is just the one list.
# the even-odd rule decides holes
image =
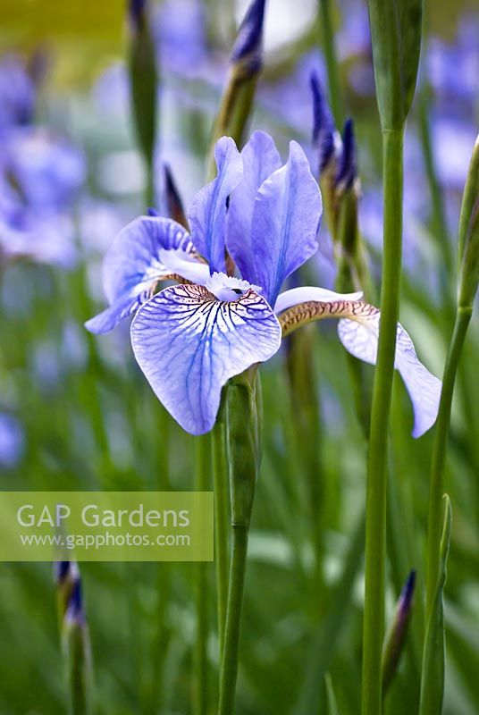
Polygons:
[[281,326],[253,290],[223,302],[202,286],[176,285],[139,309],[131,344],[164,407],[187,432],[202,434],[214,425],[223,385],[274,355]]

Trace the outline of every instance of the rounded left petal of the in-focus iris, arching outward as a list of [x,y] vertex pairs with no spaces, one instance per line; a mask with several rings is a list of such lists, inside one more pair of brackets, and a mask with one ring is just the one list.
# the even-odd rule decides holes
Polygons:
[[172,273],[160,258],[164,249],[195,253],[188,231],[168,218],[141,216],[118,233],[103,265],[103,285],[110,305],[131,291],[141,290],[141,284]]

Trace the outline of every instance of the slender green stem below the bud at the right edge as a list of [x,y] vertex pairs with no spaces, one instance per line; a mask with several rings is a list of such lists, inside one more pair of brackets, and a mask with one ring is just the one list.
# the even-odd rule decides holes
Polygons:
[[444,367],[441,402],[434,433],[431,484],[429,487],[429,515],[427,521],[426,623],[431,616],[440,570],[440,544],[443,521],[442,492],[450,428],[450,408],[452,405],[456,374],[458,373],[459,358],[464,346],[471,314],[472,308],[458,308],[450,341],[450,349],[446,359],[446,366]]

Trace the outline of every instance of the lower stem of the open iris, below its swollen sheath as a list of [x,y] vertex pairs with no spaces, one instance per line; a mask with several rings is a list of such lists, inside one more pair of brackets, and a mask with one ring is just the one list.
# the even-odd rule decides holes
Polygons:
[[236,678],[238,676],[238,652],[240,648],[241,611],[243,608],[248,552],[248,532],[249,526],[246,524],[231,525],[230,591],[228,594],[228,610],[226,612],[218,715],[232,715],[234,711]]

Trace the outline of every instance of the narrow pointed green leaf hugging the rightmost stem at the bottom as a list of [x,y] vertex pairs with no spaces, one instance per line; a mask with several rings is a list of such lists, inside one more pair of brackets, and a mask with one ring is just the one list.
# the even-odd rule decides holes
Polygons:
[[423,658],[423,677],[421,682],[421,702],[419,715],[441,715],[444,699],[444,585],[447,576],[447,561],[450,550],[451,509],[450,498],[443,496],[444,522],[440,547],[441,568],[429,618]]

